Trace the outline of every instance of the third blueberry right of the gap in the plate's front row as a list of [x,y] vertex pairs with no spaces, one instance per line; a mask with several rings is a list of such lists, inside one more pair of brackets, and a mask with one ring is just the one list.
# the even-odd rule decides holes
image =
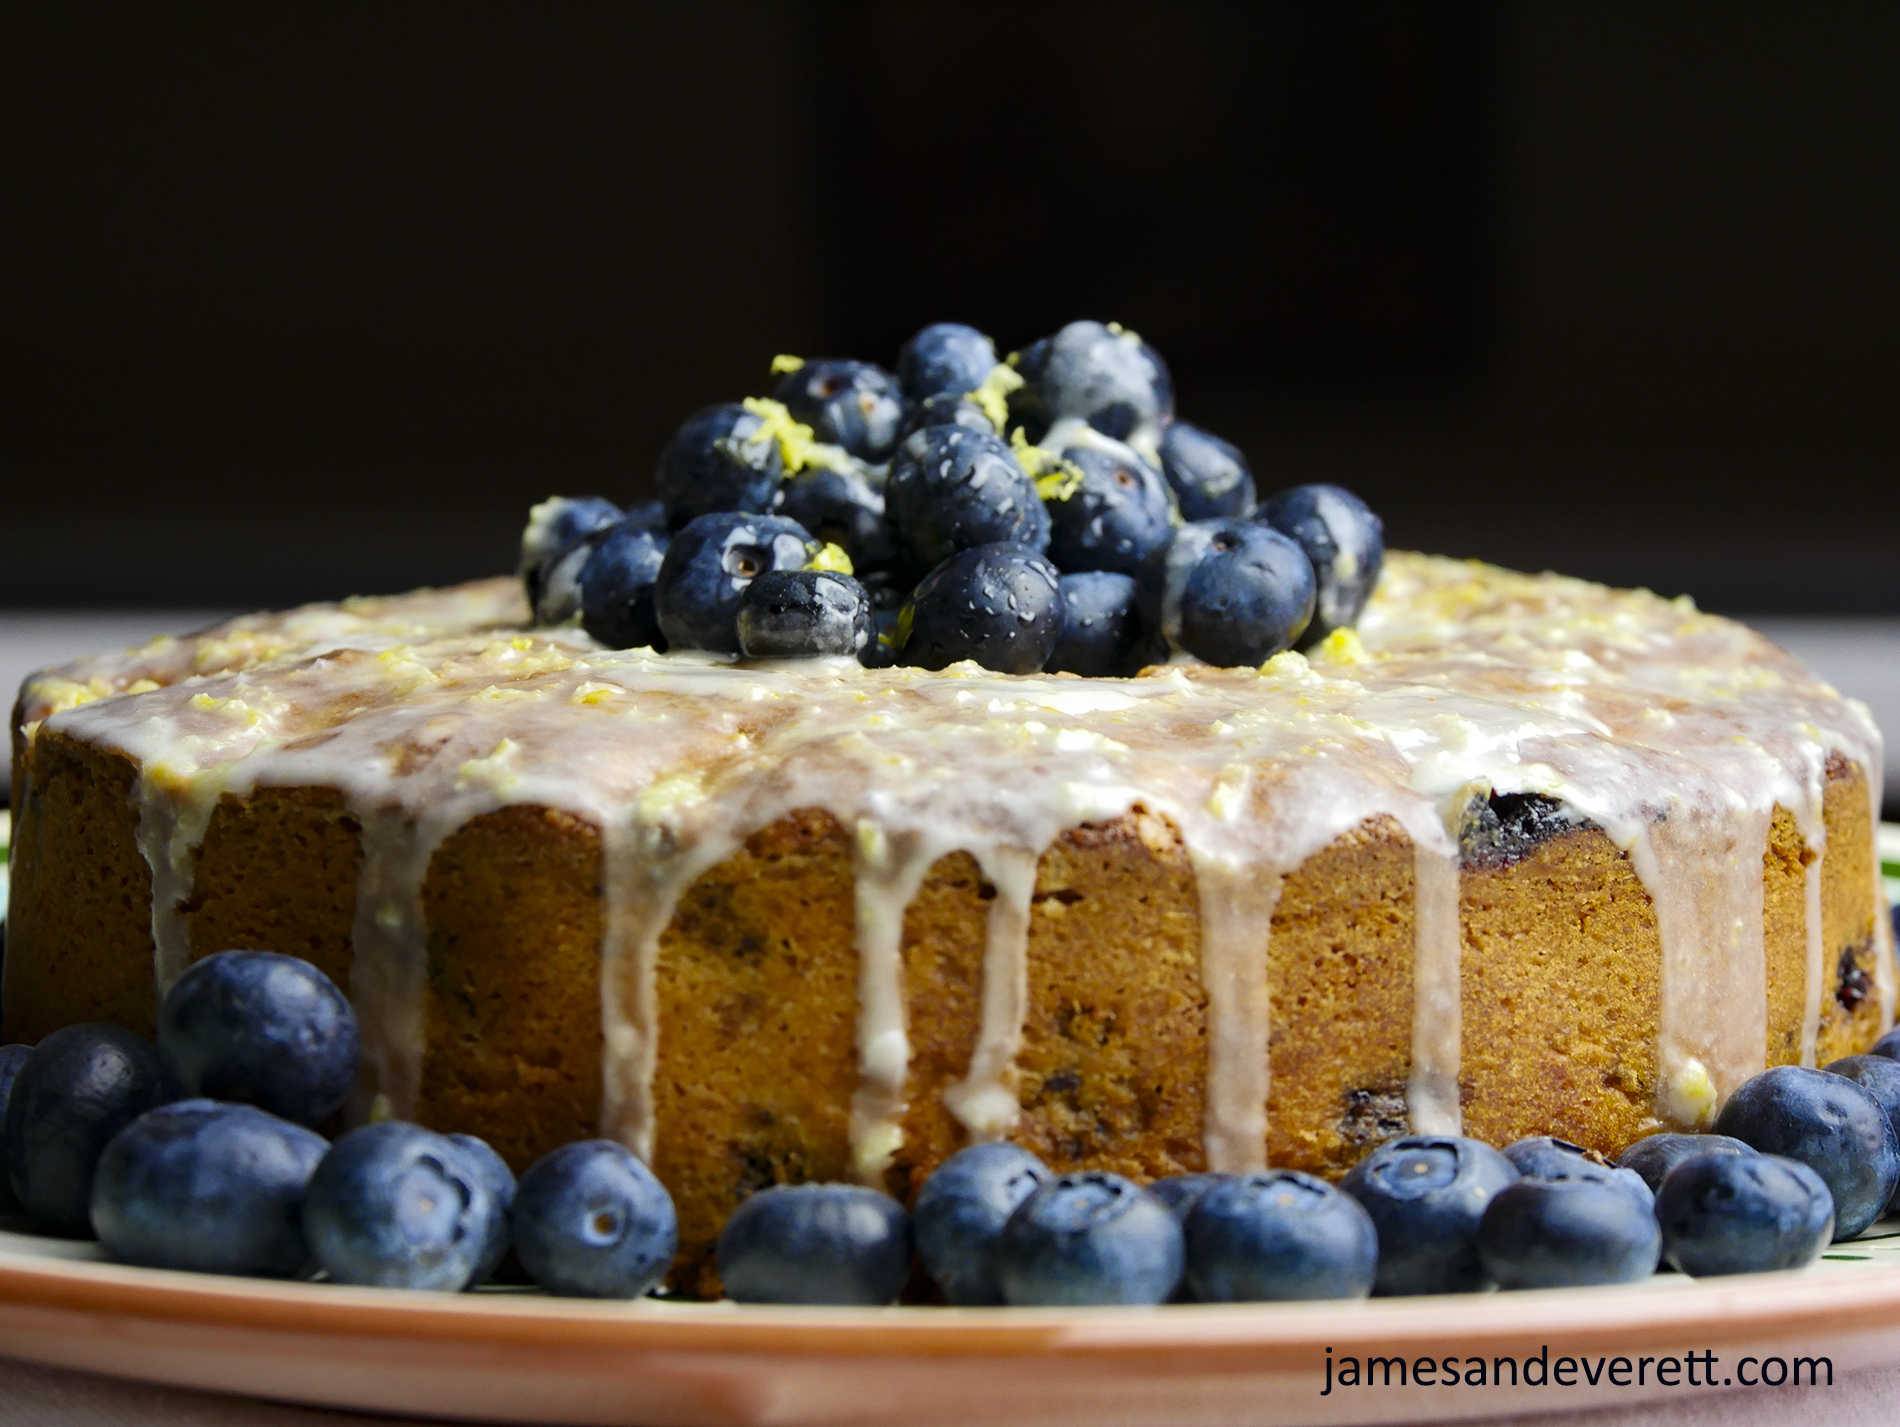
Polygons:
[[1165,1303],[1182,1279],[1182,1226],[1121,1174],[1062,1174],[1024,1199],[996,1256],[1015,1305]]

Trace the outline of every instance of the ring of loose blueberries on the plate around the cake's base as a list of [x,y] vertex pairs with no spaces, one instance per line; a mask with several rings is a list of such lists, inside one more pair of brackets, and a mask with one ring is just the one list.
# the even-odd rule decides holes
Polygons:
[[[610,1140],[515,1182],[469,1134],[317,1127],[355,1085],[357,1020],[314,965],[218,952],[116,1026],[0,1047],[6,1208],[127,1264],[454,1292],[494,1275],[638,1298],[678,1248],[673,1199]],[[1408,1136],[1338,1186],[1298,1170],[1056,1174],[1011,1144],[952,1155],[916,1205],[851,1184],[754,1193],[718,1239],[752,1303],[891,1303],[922,1271],[956,1305],[1264,1302],[1556,1288],[1801,1267],[1900,1186],[1900,1032],[1744,1083],[1712,1134],[1619,1163],[1548,1136]],[[912,1292],[912,1296],[916,1296]]]

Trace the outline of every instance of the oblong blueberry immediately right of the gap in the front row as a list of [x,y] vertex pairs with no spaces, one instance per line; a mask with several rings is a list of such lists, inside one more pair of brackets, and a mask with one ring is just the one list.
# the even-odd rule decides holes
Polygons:
[[781,1184],[718,1235],[718,1275],[741,1303],[889,1303],[910,1275],[910,1216],[855,1184]]

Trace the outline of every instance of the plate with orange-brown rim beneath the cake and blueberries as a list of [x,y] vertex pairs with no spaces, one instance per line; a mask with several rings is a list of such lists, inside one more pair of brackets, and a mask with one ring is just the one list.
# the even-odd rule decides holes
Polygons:
[[[87,1243],[0,1231],[0,1355],[475,1421],[1448,1421],[1693,1397],[1706,1379],[1826,1385],[1900,1362],[1900,1220],[1799,1273],[1159,1309],[420,1294],[135,1269],[99,1262]],[[1448,1364],[1457,1383],[1444,1381]]]

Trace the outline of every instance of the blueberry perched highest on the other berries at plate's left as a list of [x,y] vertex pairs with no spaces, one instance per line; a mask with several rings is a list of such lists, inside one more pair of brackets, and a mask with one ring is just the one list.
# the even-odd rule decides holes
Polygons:
[[186,1094],[241,1100],[298,1125],[342,1110],[361,1045],[336,982],[277,952],[194,961],[158,1007],[158,1056]]

